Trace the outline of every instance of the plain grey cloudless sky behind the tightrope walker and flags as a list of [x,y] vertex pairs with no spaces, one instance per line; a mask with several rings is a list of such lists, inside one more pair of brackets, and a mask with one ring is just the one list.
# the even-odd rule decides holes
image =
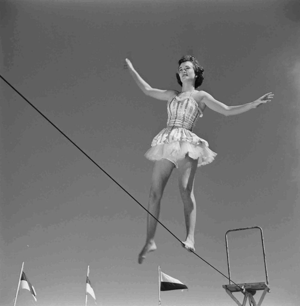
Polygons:
[[[125,57],[152,87],[180,90],[177,61],[193,50],[205,69],[198,89],[227,105],[272,91],[272,103],[230,117],[206,109],[197,122],[218,155],[196,174],[196,252],[227,275],[226,231],[262,227],[263,305],[298,305],[297,0],[4,0],[0,9],[1,75],[145,206],[153,165],[144,153],[165,127],[166,103],[143,95]],[[0,88],[0,305],[13,305],[22,261],[37,302],[21,290],[17,306],[83,305],[88,264],[99,306],[157,305],[158,265],[189,288],[163,292],[162,306],[235,305],[228,280],[161,226],[158,250],[138,265],[146,212]],[[160,219],[185,238],[176,171]],[[234,282],[265,281],[258,230],[230,234],[229,248]]]

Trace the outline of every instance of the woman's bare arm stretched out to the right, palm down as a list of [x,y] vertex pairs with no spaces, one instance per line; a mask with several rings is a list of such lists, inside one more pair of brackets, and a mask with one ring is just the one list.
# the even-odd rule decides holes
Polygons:
[[222,115],[225,115],[225,116],[238,115],[238,114],[245,113],[248,110],[256,108],[262,103],[270,102],[274,96],[272,92],[269,92],[253,102],[243,104],[243,105],[237,105],[237,106],[227,106],[226,104],[214,99],[210,94],[208,94],[205,91],[201,91],[199,93],[201,93],[201,98],[202,98],[201,102],[205,103],[205,105],[208,106],[210,109]]

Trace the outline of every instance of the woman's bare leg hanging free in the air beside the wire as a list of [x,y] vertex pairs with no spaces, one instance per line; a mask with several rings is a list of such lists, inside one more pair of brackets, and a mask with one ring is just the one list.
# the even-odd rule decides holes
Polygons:
[[[161,159],[155,161],[153,174],[152,174],[152,184],[150,188],[148,211],[155,218],[158,219],[160,211],[160,200],[165,189],[165,185],[174,169],[173,162],[167,159]],[[142,263],[146,258],[146,253],[156,250],[156,245],[154,242],[154,234],[157,226],[157,221],[148,214],[147,216],[147,237],[146,243],[139,253],[139,263]]]

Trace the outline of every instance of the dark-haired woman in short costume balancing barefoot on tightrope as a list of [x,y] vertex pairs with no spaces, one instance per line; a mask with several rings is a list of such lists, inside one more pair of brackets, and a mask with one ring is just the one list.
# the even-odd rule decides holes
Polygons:
[[[196,169],[197,166],[212,162],[217,155],[209,149],[206,140],[192,132],[197,119],[203,116],[206,106],[225,116],[237,115],[256,108],[262,103],[270,102],[274,95],[270,92],[247,104],[227,106],[207,92],[195,90],[202,84],[204,70],[199,62],[190,55],[180,58],[178,62],[176,77],[182,87],[181,92],[152,88],[139,76],[127,58],[126,63],[133,79],[144,94],[158,100],[168,101],[167,127],[154,137],[151,148],[145,154],[147,159],[154,161],[148,210],[156,218],[159,217],[160,200],[165,185],[173,168],[178,168],[179,190],[184,204],[187,232],[182,244],[187,250],[195,251],[196,202],[193,185]],[[154,242],[156,226],[157,221],[148,214],[146,243],[139,253],[139,263],[146,258],[146,253],[156,250]]]

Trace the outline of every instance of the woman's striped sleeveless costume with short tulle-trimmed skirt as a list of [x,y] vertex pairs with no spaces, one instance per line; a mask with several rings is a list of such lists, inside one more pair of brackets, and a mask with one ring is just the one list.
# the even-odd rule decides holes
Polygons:
[[168,159],[178,168],[178,161],[186,155],[198,159],[198,167],[209,164],[217,155],[208,147],[206,140],[194,134],[193,128],[202,110],[192,97],[180,99],[174,95],[167,103],[167,127],[162,129],[152,140],[151,148],[145,157],[151,161]]

